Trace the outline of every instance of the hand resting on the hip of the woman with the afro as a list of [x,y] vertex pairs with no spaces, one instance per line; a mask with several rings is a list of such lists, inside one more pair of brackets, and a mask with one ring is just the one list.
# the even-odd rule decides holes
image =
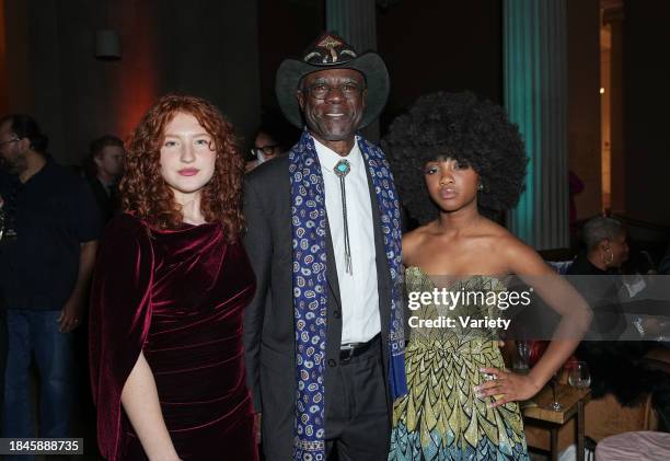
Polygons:
[[488,404],[492,408],[508,402],[528,400],[542,389],[542,385],[534,382],[528,374],[517,374],[497,368],[481,368],[480,371],[495,377],[490,381],[474,387],[480,399],[496,395],[495,401]]

